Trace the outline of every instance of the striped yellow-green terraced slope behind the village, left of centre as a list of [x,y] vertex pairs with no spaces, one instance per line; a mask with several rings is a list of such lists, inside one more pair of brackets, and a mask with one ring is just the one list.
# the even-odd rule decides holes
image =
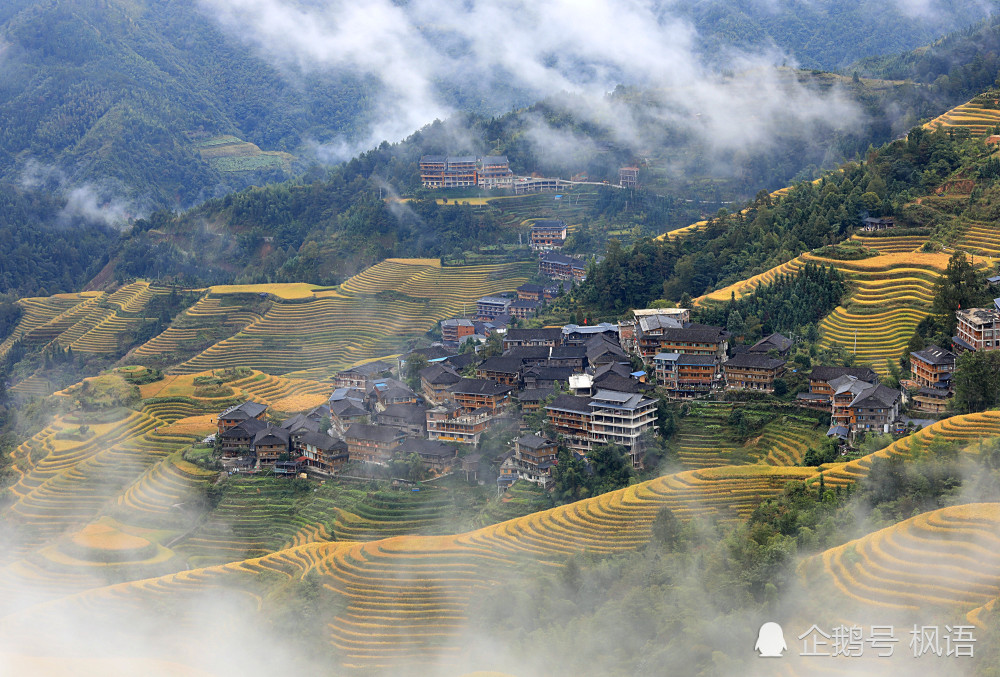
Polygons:
[[[328,376],[397,352],[408,338],[472,308],[486,294],[527,281],[533,264],[442,268],[426,259],[389,259],[305,302],[276,302],[263,318],[176,367],[193,373],[250,366],[271,374]],[[381,292],[394,292],[380,299]]]

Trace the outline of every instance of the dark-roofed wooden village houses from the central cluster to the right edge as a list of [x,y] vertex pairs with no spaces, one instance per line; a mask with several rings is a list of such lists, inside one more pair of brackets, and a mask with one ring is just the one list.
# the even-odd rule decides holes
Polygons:
[[[556,293],[523,285],[517,300],[542,302]],[[723,328],[691,322],[680,308],[637,310],[620,325],[511,329],[506,321],[514,302],[485,297],[475,320],[442,322],[444,342],[414,351],[428,362],[417,391],[392,377],[405,360],[380,361],[338,373],[327,404],[280,423],[268,420],[263,404],[227,409],[219,415],[217,437],[224,462],[277,474],[333,474],[349,461],[385,465],[415,454],[431,471],[461,463],[475,473],[479,457],[460,457],[458,450],[474,451],[517,405],[524,415],[544,410],[571,452],[585,457],[597,445],[619,444],[639,468],[643,434],[656,419],[649,374],[675,399],[722,389],[773,392],[792,347],[781,334],[730,346]],[[995,308],[960,310],[958,318],[957,350],[1000,350],[1000,299]],[[503,337],[501,354],[456,351],[466,337],[491,331]],[[632,355],[644,362],[644,371],[633,370]],[[913,382],[906,385],[915,389],[917,409],[945,411],[955,361],[954,352],[938,346],[910,353]],[[867,367],[816,366],[809,391],[797,401],[829,411],[828,435],[851,441],[898,427],[903,393],[879,383]],[[555,464],[556,441],[529,432],[502,458],[500,485],[524,479],[548,486]]]

